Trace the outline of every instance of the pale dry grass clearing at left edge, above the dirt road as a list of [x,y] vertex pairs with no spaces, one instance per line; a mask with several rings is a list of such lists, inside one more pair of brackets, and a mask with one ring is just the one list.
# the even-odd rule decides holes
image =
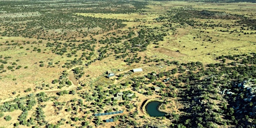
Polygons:
[[[35,86],[41,85],[42,83],[51,83],[51,81],[53,79],[57,79],[60,73],[64,70],[63,68],[60,68],[60,65],[55,65],[55,67],[46,67],[50,61],[49,59],[53,59],[53,63],[61,60],[59,55],[51,52],[37,53],[36,51],[31,51],[32,48],[36,46],[40,47],[42,50],[41,52],[43,52],[42,45],[38,46],[37,44],[27,44],[22,46],[24,48],[20,49],[19,46],[13,46],[13,48],[1,51],[1,55],[11,56],[11,58],[8,58],[7,60],[8,65],[15,62],[15,67],[17,65],[21,66],[19,69],[15,69],[14,67],[14,71],[7,69],[6,72],[1,73],[0,97],[2,99],[8,96],[14,96],[11,94],[13,91],[17,92],[16,95],[22,95],[26,88],[31,87],[34,89]],[[26,50],[26,48],[30,49]],[[19,59],[19,61],[16,61],[17,59]],[[39,61],[41,60],[44,63],[43,67],[39,66]],[[27,66],[27,68],[24,68],[25,66]]]

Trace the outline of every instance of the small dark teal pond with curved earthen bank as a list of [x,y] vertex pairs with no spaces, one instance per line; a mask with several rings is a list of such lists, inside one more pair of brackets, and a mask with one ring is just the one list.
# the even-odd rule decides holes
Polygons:
[[153,117],[164,116],[166,113],[158,110],[158,106],[161,104],[159,101],[151,101],[146,104],[146,112]]

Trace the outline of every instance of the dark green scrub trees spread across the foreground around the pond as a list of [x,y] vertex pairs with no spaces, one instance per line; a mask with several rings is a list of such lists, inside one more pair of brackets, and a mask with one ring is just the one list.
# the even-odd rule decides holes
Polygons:
[[[248,62],[253,63],[255,61],[255,53],[243,54],[243,55],[222,55],[217,57],[217,59],[231,59],[237,62],[242,62],[249,60]],[[148,58],[147,58],[148,59]],[[150,64],[150,61],[148,64]],[[130,110],[133,107],[136,107],[136,104],[131,104],[130,99],[136,98],[135,95],[132,97],[127,97],[128,93],[132,91],[122,91],[122,100],[123,102],[113,100],[111,97],[106,95],[115,95],[120,92],[122,88],[133,87],[133,91],[145,95],[151,95],[153,93],[158,94],[164,99],[176,98],[179,97],[177,101],[183,102],[189,107],[180,109],[185,114],[179,114],[176,116],[176,111],[172,111],[170,116],[167,116],[168,119],[172,121],[171,126],[185,126],[185,127],[210,127],[213,125],[236,125],[243,127],[245,125],[253,126],[254,124],[248,121],[248,119],[254,120],[254,115],[249,114],[252,111],[253,106],[255,105],[255,100],[246,102],[243,100],[243,95],[246,94],[246,90],[234,87],[238,83],[242,82],[248,78],[254,78],[256,67],[253,65],[250,66],[226,66],[228,63],[213,63],[206,66],[201,62],[188,62],[180,63],[178,61],[169,61],[166,59],[159,59],[157,62],[162,65],[170,66],[176,65],[176,68],[172,68],[167,71],[161,72],[149,72],[145,76],[135,76],[130,79],[126,79],[125,82],[121,84],[112,84],[108,86],[102,85],[93,85],[88,86],[86,84],[77,88],[76,90],[62,90],[57,92],[57,96],[48,97],[44,92],[35,94],[29,94],[26,97],[16,98],[13,102],[5,102],[0,106],[0,116],[4,117],[6,121],[10,120],[9,115],[5,115],[6,111],[14,111],[20,109],[23,112],[18,116],[18,122],[14,123],[14,126],[17,125],[45,125],[47,126],[59,126],[63,123],[73,125],[72,122],[79,122],[80,125],[88,125],[88,120],[93,121],[95,125],[102,124],[102,119],[90,116],[92,113],[98,112],[110,112],[115,111],[117,106],[124,106],[125,109]],[[248,63],[247,62],[247,63]],[[80,73],[79,68],[74,68],[73,72],[75,74]],[[155,73],[156,75],[153,75]],[[178,76],[174,76],[177,74]],[[65,77],[65,71],[62,74]],[[170,80],[163,82],[163,79],[169,77]],[[54,80],[53,82],[58,82]],[[153,86],[159,86],[161,90],[159,92],[154,91],[153,86],[147,86],[147,84],[153,84]],[[82,88],[91,87],[91,90],[84,91]],[[230,89],[234,92],[234,95],[221,95],[219,94],[219,88]],[[30,90],[29,88],[27,89]],[[73,98],[67,102],[57,102],[55,101],[58,96],[63,96],[64,94],[79,95],[81,98]],[[53,106],[55,107],[56,114],[59,110],[64,109],[66,112],[70,112],[73,116],[70,120],[59,120],[57,124],[49,124],[44,119],[45,115],[43,114],[42,108],[44,105],[38,106],[34,111],[34,116],[27,119],[27,112],[32,110],[32,106],[37,103],[48,101],[49,99],[53,100]],[[213,100],[220,101],[219,104],[213,102]],[[166,102],[167,103],[167,102]],[[230,105],[227,105],[230,104]],[[234,109],[233,106],[239,106],[243,104],[249,107],[240,107],[240,109]],[[107,109],[108,105],[113,106],[114,109]],[[169,104],[165,104],[169,105]],[[218,106],[218,107],[216,107]],[[89,111],[83,110],[84,108],[94,108]],[[239,113],[237,110],[247,111]],[[83,112],[84,117],[79,118],[76,116],[78,112]],[[125,118],[123,118],[125,116]],[[123,115],[116,116],[115,119],[120,121],[119,125],[122,124],[132,124],[138,125],[134,117],[138,117],[135,113],[132,115]]]

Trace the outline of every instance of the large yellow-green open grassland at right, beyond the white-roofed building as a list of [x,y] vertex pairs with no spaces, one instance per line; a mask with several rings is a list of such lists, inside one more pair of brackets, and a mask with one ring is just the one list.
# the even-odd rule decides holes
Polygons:
[[[215,22],[224,24],[228,20],[215,20]],[[178,28],[174,35],[169,32],[170,35],[159,42],[159,48],[153,48],[154,44],[149,45],[146,54],[184,62],[214,63],[216,62],[214,59],[222,54],[243,54],[256,51],[255,34],[243,34],[242,32],[229,34],[229,32],[220,32],[220,29],[223,30],[222,27],[213,29]],[[233,27],[229,31],[234,29],[238,30],[239,28]],[[204,32],[200,33],[201,30]],[[193,39],[197,36],[200,36],[200,38]],[[209,37],[211,37],[211,41],[208,41]]]

